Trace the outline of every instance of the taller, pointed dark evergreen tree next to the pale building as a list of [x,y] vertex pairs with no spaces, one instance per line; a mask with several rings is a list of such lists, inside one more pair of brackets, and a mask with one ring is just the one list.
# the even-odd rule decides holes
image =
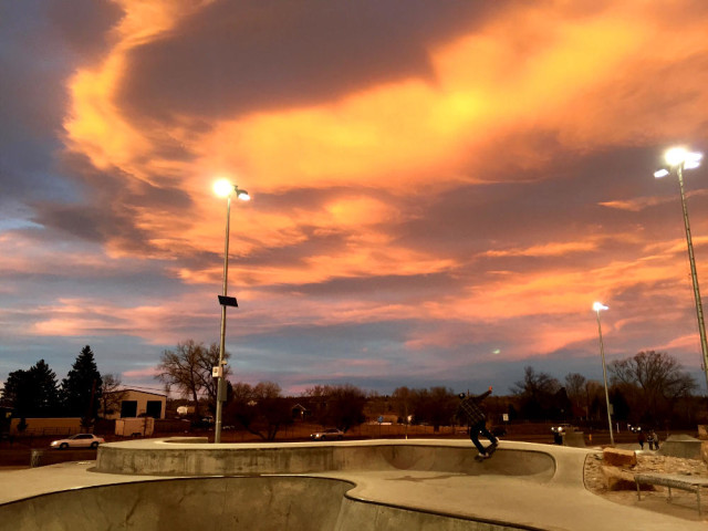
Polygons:
[[62,381],[64,413],[71,417],[82,417],[84,425],[93,423],[98,413],[102,387],[103,381],[93,351],[86,345]]

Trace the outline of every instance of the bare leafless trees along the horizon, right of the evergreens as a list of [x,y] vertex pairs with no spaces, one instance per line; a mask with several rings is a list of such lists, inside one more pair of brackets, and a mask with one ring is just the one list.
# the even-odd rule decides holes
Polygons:
[[[228,353],[226,358],[229,358]],[[165,351],[157,376],[167,387],[192,397],[195,415],[212,413],[216,386],[211,367],[218,363],[217,345],[206,347],[187,341],[175,351]],[[228,371],[228,366],[227,366]],[[706,414],[702,398],[693,396],[697,385],[680,363],[667,353],[647,351],[608,365],[613,419],[628,424],[664,427],[667,424],[695,425]],[[227,372],[227,374],[229,374]],[[272,440],[278,430],[293,420],[293,407],[306,410],[311,421],[348,429],[365,418],[388,415],[399,423],[429,424],[434,429],[455,424],[459,399],[449,388],[398,387],[392,395],[367,393],[352,385],[314,386],[301,396],[282,396],[273,382],[256,386],[227,381],[223,423],[240,426]],[[564,382],[524,368],[507,396],[492,396],[487,407],[493,421],[574,421],[603,426],[606,423],[604,385],[579,373]],[[202,397],[197,399],[196,397]],[[504,417],[506,415],[506,417]],[[702,421],[702,420],[701,420]]]

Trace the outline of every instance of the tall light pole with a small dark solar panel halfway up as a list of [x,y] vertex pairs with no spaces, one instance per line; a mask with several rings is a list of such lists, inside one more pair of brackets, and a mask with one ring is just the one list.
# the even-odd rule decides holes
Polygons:
[[217,377],[217,415],[214,426],[214,441],[221,442],[221,414],[223,409],[223,400],[226,395],[226,386],[223,382],[223,351],[226,345],[226,308],[237,306],[235,298],[227,295],[227,285],[229,278],[229,225],[231,221],[231,195],[236,192],[237,199],[248,201],[250,199],[248,191],[240,189],[226,179],[217,180],[214,184],[214,191],[221,197],[227,198],[226,202],[226,237],[223,239],[223,295],[219,296],[221,304],[221,334],[219,337],[219,365],[214,367],[214,376]]

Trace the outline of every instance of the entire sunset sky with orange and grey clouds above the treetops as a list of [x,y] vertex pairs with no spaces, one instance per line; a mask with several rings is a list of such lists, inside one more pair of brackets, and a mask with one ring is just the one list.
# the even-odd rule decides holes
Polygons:
[[[708,2],[0,4],[0,382],[84,345],[159,389],[218,342],[298,394],[499,394],[644,350],[705,392],[668,147],[708,150]],[[708,169],[686,171],[708,296]]]

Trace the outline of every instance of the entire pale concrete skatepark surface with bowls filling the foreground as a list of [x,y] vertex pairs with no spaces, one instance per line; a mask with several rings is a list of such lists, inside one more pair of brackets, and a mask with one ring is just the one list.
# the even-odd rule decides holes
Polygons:
[[95,462],[0,473],[0,530],[705,531],[695,508],[587,491],[592,452],[502,441],[478,462],[462,440],[110,444]]

